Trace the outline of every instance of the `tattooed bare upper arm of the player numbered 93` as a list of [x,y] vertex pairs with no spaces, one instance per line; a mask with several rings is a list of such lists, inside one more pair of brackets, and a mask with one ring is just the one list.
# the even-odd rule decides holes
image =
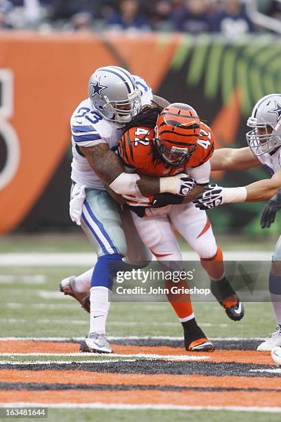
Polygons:
[[107,185],[110,185],[119,174],[124,172],[121,160],[111,151],[107,143],[99,143],[94,147],[80,147],[94,172]]

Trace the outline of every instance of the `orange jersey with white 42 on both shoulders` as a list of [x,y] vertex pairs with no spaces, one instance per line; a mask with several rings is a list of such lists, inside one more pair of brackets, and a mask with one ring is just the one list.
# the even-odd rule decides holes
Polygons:
[[130,168],[136,168],[139,173],[147,176],[174,176],[185,172],[186,168],[198,167],[208,161],[214,152],[214,137],[208,125],[200,122],[200,136],[196,150],[186,163],[172,167],[163,163],[153,143],[154,129],[130,128],[123,134],[118,144],[118,154],[123,163]]

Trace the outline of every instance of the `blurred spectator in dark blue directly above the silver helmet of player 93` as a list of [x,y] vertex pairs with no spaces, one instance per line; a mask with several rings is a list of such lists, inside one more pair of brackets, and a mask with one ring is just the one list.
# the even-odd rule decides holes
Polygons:
[[149,20],[138,0],[120,0],[118,10],[107,17],[107,25],[118,30],[149,30]]

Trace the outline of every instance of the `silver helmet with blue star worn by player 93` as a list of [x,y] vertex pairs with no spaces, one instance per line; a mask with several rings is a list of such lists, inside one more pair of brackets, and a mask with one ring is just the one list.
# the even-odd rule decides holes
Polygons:
[[107,120],[125,124],[141,110],[141,91],[132,74],[118,66],[98,68],[88,83],[89,99]]

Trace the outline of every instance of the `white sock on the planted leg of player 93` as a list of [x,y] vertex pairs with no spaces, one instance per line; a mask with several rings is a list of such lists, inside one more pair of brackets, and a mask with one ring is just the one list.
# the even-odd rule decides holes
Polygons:
[[112,291],[97,286],[90,290],[90,332],[105,334],[105,323],[110,310]]

